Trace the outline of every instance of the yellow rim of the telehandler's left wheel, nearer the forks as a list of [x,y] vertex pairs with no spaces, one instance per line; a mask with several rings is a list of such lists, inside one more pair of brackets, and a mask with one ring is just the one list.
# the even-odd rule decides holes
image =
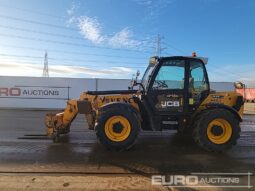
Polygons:
[[114,142],[124,141],[131,132],[129,121],[123,116],[112,116],[105,123],[105,134]]

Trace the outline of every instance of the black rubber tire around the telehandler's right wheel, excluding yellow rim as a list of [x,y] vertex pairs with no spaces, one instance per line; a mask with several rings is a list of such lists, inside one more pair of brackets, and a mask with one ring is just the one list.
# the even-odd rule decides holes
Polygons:
[[[210,141],[207,136],[208,125],[215,119],[226,120],[232,129],[232,135],[230,139],[223,144],[215,144]],[[237,144],[237,140],[240,138],[241,132],[239,123],[239,119],[226,109],[210,109],[203,111],[195,120],[193,139],[198,144],[198,146],[207,151],[223,152]]]

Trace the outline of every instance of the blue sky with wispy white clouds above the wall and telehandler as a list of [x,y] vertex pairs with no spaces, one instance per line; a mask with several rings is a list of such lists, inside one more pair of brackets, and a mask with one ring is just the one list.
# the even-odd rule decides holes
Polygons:
[[[211,81],[255,81],[253,0],[0,0],[0,75],[131,78],[162,56],[209,57]],[[255,84],[255,83],[254,83]]]

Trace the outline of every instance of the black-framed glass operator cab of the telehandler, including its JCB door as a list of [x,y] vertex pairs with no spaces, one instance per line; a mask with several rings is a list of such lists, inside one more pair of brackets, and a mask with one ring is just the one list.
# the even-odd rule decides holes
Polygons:
[[[207,58],[153,57],[142,78],[143,102],[163,126],[178,124],[209,95]],[[157,126],[157,125],[155,125]]]

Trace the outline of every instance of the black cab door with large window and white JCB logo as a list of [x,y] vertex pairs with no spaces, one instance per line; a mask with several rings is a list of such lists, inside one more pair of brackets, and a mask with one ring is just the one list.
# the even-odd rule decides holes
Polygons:
[[155,115],[184,115],[188,106],[188,61],[161,60],[148,88],[147,99]]

